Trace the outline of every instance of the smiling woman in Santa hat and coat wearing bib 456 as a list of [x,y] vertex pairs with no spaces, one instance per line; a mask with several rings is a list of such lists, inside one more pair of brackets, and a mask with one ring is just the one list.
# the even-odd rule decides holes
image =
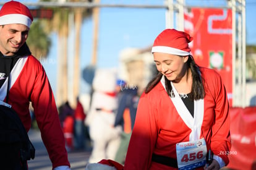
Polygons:
[[124,169],[220,169],[229,163],[226,90],[215,70],[195,64],[192,40],[174,29],[156,37],[151,52],[159,73],[140,97]]

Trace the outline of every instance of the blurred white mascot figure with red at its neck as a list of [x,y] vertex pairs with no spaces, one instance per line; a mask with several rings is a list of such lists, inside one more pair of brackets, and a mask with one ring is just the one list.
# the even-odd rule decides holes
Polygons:
[[97,163],[101,159],[114,159],[120,142],[121,127],[114,127],[116,70],[96,70],[92,86],[92,103],[85,124],[89,127],[93,145],[88,163]]

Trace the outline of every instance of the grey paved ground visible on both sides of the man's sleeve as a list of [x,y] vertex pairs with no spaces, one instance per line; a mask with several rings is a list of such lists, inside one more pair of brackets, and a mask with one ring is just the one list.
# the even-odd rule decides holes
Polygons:
[[[51,170],[51,161],[49,160],[45,145],[43,145],[41,140],[40,132],[32,129],[28,132],[28,135],[36,149],[35,159],[28,161],[28,169]],[[72,170],[85,170],[90,152],[84,150],[71,151],[68,153],[68,156]]]

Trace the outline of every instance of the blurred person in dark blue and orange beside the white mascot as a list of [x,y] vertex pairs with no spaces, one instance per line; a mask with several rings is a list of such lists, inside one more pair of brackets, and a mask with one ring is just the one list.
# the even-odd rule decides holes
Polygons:
[[115,161],[124,164],[124,159],[126,158],[126,152],[130,141],[130,135],[132,134],[132,129],[134,127],[139,96],[137,87],[129,87],[129,85],[127,85],[127,83],[121,79],[117,80],[117,91],[118,108],[114,127],[121,125],[122,134]]

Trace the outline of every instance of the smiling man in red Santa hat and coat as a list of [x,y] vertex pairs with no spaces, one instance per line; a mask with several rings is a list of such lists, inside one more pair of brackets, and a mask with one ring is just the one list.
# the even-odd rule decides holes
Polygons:
[[28,7],[20,2],[9,1],[1,8],[0,100],[17,112],[27,132],[31,102],[53,169],[70,169],[53,91],[43,66],[25,42],[32,21]]

